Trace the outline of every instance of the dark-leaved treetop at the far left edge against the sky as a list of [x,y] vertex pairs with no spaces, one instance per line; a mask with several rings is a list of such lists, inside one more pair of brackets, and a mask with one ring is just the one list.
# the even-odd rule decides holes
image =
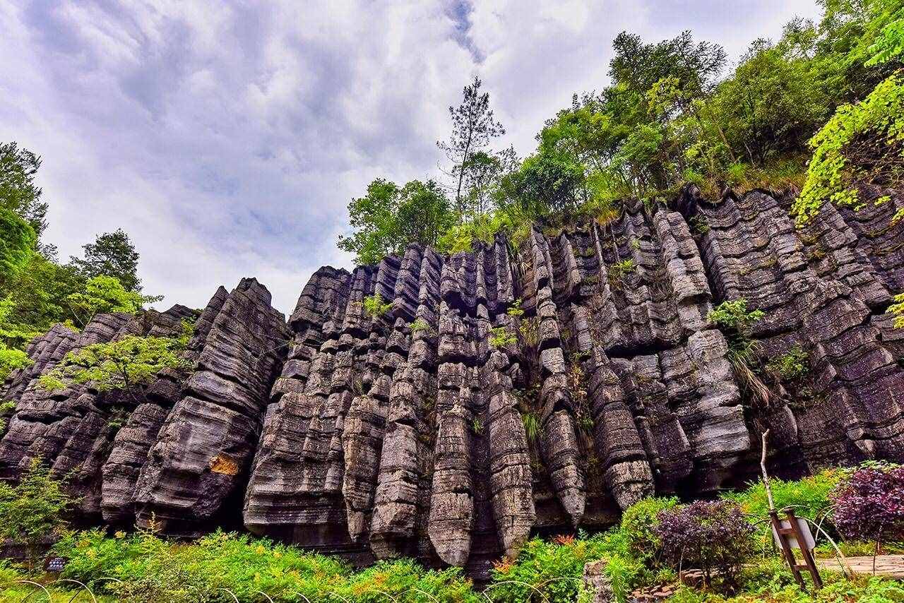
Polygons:
[[47,226],[47,203],[34,176],[41,157],[19,148],[14,142],[0,144],[0,208],[14,212],[29,223],[35,237]]

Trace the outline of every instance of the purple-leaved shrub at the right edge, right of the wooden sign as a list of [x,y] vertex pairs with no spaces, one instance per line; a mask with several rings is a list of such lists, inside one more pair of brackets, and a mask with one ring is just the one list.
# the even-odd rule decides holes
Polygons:
[[831,495],[833,519],[846,538],[904,540],[904,466],[863,467]]

